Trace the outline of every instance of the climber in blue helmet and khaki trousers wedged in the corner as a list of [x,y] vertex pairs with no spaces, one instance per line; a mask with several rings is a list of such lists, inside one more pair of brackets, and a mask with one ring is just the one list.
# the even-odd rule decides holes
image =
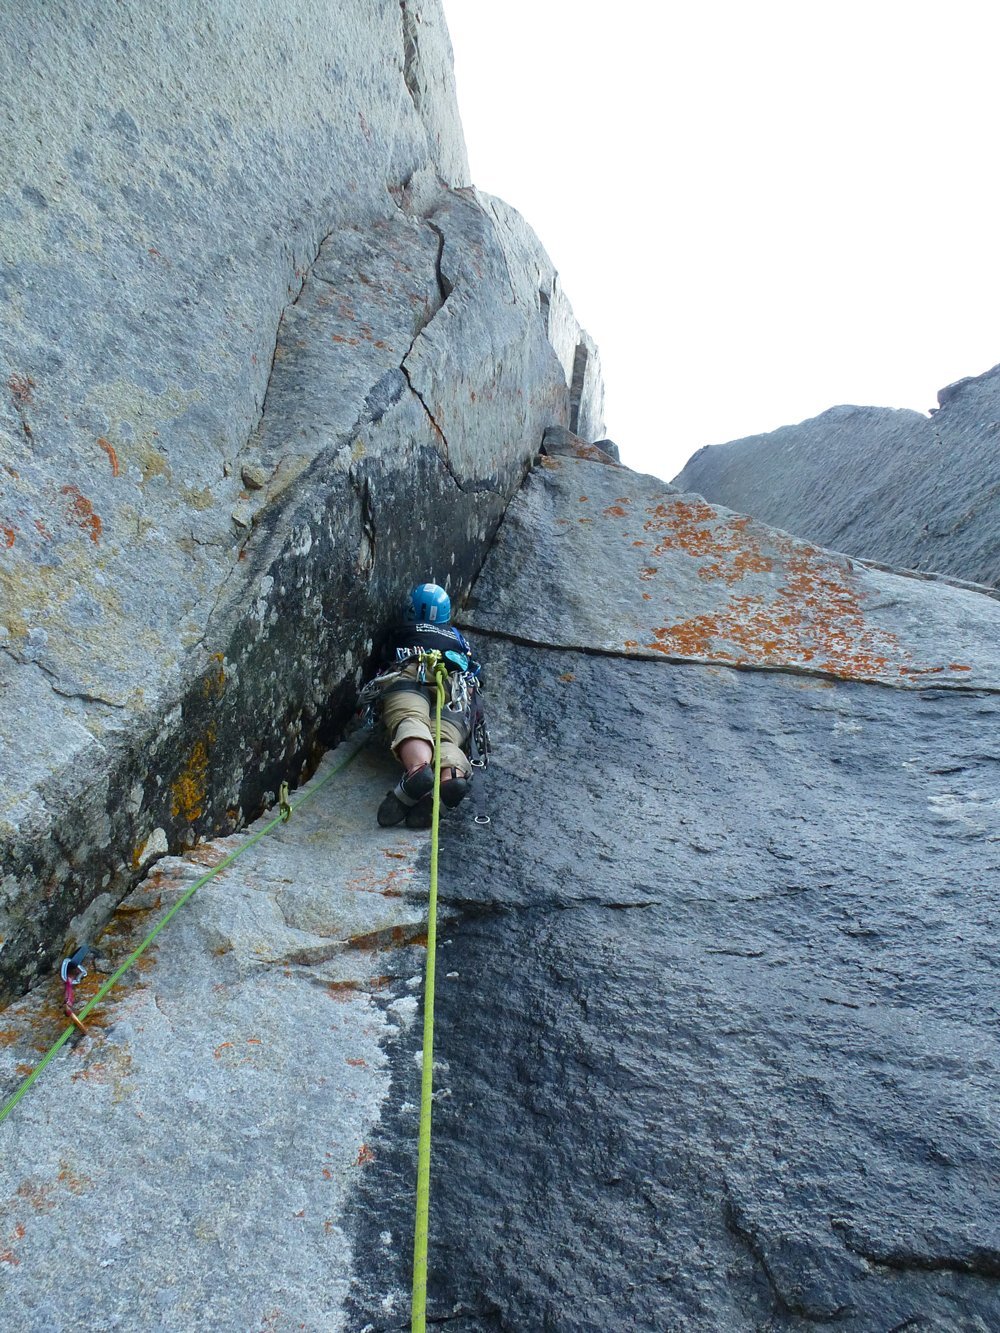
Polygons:
[[369,702],[380,700],[389,746],[403,765],[403,776],[385,793],[376,814],[383,828],[404,820],[411,829],[431,826],[436,686],[433,670],[423,656],[429,652],[441,653],[448,668],[441,709],[441,802],[453,809],[469,790],[472,764],[465,748],[475,725],[479,663],[472,661],[472,649],[451,624],[451,599],[444,588],[417,584],[403,605],[401,623],[385,636],[379,674],[361,693]]

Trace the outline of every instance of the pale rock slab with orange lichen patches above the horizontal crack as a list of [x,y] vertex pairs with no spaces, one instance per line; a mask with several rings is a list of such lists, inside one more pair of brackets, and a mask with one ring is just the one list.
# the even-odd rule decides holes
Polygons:
[[[999,600],[868,567],[564,448],[508,508],[473,629],[625,657],[1000,689]],[[549,587],[560,596],[540,611]]]

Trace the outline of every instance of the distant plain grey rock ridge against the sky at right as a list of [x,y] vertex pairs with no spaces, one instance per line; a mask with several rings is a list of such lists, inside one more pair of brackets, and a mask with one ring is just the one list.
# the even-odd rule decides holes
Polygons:
[[699,449],[673,479],[713,504],[852,556],[1000,585],[1000,367],[931,416],[837,407]]

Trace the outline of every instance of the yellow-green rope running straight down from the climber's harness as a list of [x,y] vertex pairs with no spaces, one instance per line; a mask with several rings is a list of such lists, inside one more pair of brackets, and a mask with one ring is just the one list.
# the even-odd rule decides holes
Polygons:
[[441,708],[448,669],[435,664],[435,790],[431,820],[431,892],[427,900],[427,976],[424,980],[424,1056],[420,1069],[420,1134],[417,1138],[417,1201],[413,1224],[412,1333],[427,1329],[427,1232],[431,1209],[431,1108],[435,1064],[435,952],[437,948],[437,830],[441,820]]

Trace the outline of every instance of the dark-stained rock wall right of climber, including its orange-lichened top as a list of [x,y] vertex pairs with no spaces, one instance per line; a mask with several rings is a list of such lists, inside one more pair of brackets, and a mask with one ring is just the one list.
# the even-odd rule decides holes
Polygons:
[[[492,825],[443,852],[431,1314],[985,1333],[1000,605],[657,485],[544,460],[473,589],[497,746]],[[660,651],[655,627],[737,599],[775,644]],[[836,661],[803,665],[813,636]],[[956,636],[973,688],[897,673]],[[377,1236],[405,1232],[415,1040],[353,1205],[359,1329],[405,1300]]]

